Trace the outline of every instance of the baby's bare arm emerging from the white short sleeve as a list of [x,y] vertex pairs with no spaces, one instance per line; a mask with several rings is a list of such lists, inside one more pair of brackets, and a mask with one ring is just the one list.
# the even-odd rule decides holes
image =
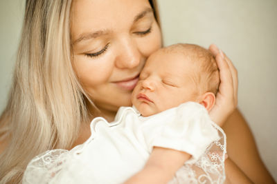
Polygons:
[[124,184],[168,183],[175,172],[190,159],[190,154],[163,147],[153,147],[143,170],[129,178]]

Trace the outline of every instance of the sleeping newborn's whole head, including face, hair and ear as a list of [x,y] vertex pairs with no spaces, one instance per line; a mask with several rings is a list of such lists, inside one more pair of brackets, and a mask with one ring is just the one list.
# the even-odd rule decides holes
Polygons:
[[211,110],[220,83],[213,55],[192,44],[161,48],[146,61],[132,94],[132,103],[143,116],[157,114],[187,101]]

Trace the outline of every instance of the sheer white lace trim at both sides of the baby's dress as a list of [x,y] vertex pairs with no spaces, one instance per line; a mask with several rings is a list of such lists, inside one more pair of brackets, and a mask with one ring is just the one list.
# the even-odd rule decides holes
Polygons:
[[[226,135],[223,130],[214,125],[220,133],[220,140],[214,141],[196,163],[185,164],[175,174],[170,184],[175,183],[224,183],[224,156],[226,154]],[[84,146],[84,145],[83,145]],[[66,161],[83,149],[83,146],[73,150],[49,150],[30,161],[22,183],[49,183],[54,176],[64,168]]]

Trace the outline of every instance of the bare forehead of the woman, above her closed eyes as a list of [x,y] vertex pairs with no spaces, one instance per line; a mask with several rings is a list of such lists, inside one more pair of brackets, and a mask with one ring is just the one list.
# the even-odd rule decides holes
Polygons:
[[87,32],[129,28],[152,14],[148,0],[75,0],[71,7],[71,35],[76,40]]

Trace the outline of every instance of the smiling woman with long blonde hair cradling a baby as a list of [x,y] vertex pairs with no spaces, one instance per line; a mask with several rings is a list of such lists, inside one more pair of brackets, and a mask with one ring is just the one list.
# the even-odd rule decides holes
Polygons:
[[[0,119],[1,183],[18,183],[28,161],[45,150],[83,143],[93,117],[112,121],[118,107],[131,105],[145,60],[162,45],[157,18],[156,1],[26,1],[14,81]],[[211,117],[223,124],[231,114],[223,125],[230,168],[238,165],[255,183],[273,183],[247,124],[233,112],[236,70],[215,45],[210,50],[221,75]]]

